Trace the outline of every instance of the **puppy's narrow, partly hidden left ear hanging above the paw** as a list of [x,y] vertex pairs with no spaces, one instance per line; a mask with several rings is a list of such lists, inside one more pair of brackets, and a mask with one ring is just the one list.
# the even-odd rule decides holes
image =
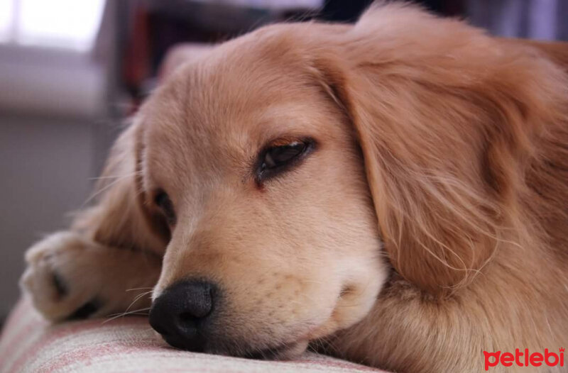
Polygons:
[[143,193],[141,122],[138,114],[114,143],[92,197],[94,204],[78,213],[73,228],[103,245],[161,252],[170,232]]

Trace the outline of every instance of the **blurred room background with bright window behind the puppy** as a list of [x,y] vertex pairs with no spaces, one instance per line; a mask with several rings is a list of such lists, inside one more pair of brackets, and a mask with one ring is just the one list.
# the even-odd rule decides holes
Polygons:
[[[568,40],[567,0],[413,2],[495,35]],[[83,206],[168,48],[275,21],[352,22],[370,3],[0,0],[0,322],[18,299],[23,252]]]

